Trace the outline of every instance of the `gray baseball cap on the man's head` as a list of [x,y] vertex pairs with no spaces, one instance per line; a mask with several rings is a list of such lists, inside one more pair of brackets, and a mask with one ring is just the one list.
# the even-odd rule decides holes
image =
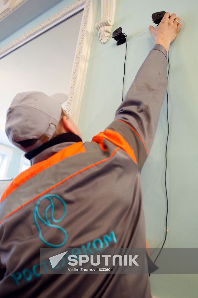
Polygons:
[[[67,98],[63,93],[18,93],[7,110],[5,132],[10,142],[29,152],[49,141],[61,118],[61,104]],[[26,140],[32,140],[28,147]]]

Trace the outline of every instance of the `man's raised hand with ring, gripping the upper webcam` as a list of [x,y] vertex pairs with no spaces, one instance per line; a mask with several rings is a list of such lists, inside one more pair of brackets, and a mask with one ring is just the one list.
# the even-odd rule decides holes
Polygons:
[[181,29],[182,24],[179,23],[179,20],[180,18],[176,17],[175,13],[172,13],[172,15],[170,15],[170,13],[165,13],[156,29],[153,26],[148,27],[155,44],[161,44],[165,47],[167,52],[169,50],[170,43],[174,41]]

